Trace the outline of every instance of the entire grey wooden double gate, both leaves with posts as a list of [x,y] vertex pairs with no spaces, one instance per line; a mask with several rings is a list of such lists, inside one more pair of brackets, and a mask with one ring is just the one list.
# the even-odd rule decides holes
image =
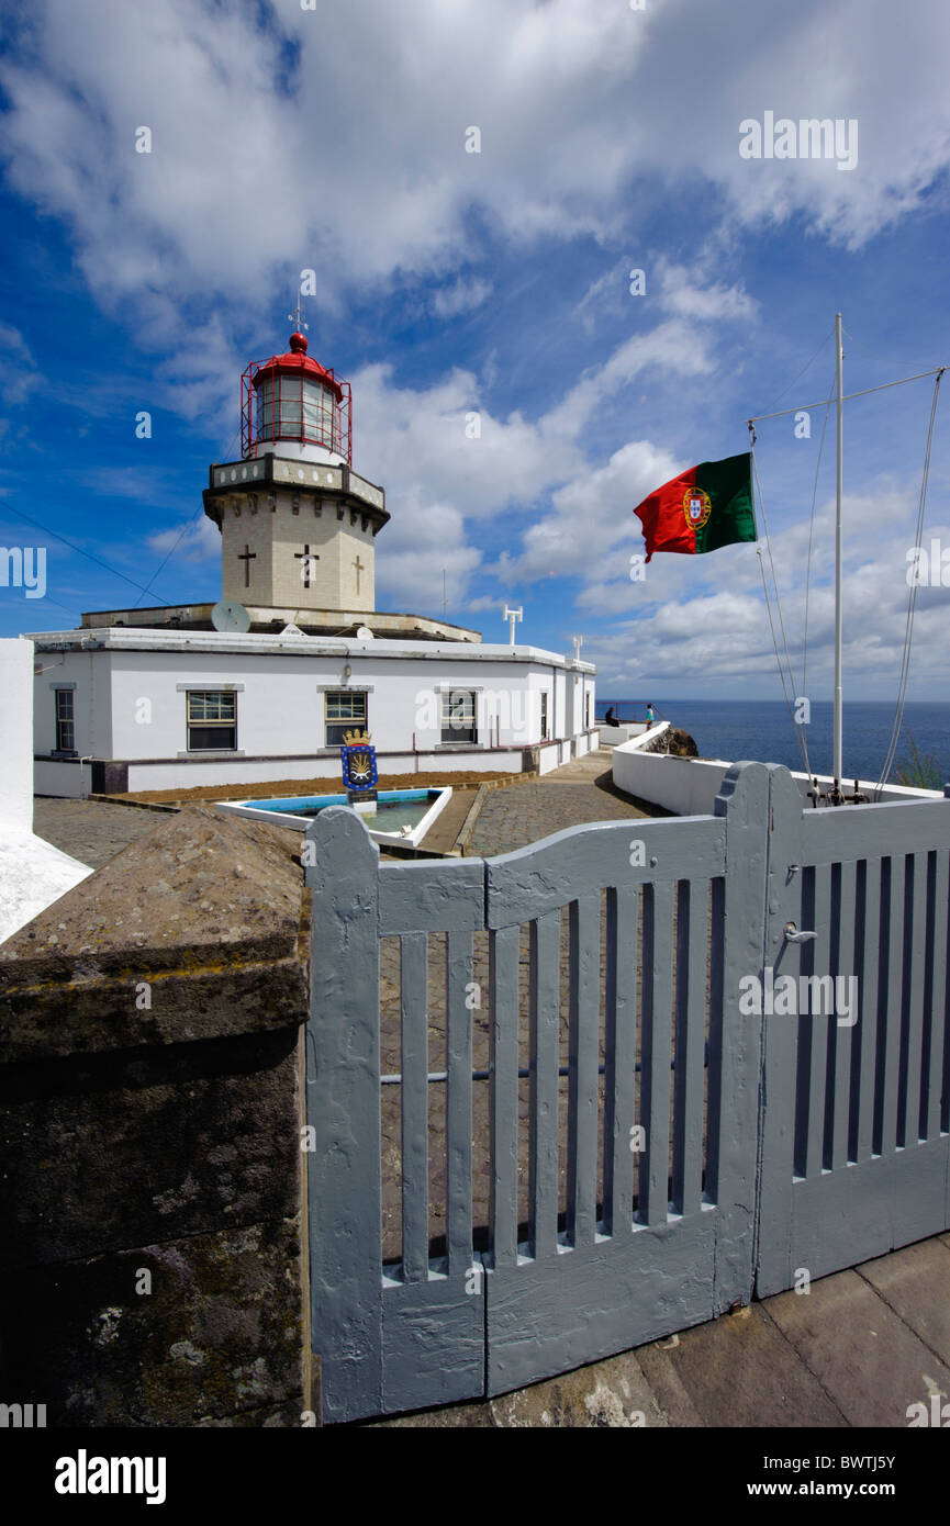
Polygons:
[[[805,812],[758,763],[713,816],[486,861],[380,864],[322,812],[324,1418],[506,1392],[948,1227],[948,842],[942,803]],[[793,967],[861,971],[855,1027],[742,1010]]]

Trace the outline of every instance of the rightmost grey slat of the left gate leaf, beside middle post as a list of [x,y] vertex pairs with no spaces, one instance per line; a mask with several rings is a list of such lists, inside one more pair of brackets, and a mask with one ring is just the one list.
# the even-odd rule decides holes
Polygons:
[[674,1212],[696,1213],[703,1177],[703,1082],[707,885],[677,891],[677,1051],[674,1083]]

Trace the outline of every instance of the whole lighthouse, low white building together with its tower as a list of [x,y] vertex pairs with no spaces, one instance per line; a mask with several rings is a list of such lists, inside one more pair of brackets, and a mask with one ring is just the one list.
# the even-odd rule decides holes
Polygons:
[[203,499],[217,606],[31,635],[38,794],[338,778],[350,728],[371,732],[380,775],[547,772],[596,745],[577,655],[376,609],[385,491],[353,470],[350,385],[299,330],[244,371],[241,459],[212,462]]

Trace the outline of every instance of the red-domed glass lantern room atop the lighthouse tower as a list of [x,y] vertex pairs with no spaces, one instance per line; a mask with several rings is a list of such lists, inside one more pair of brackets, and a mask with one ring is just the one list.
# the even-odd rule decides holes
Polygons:
[[312,360],[301,333],[290,349],[241,377],[241,455],[263,456],[278,449],[302,461],[353,464],[353,397],[342,382]]

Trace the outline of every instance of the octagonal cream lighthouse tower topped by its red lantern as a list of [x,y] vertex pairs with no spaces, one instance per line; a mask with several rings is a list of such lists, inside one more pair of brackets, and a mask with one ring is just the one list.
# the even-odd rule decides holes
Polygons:
[[331,624],[374,609],[389,516],[383,490],[353,472],[350,383],[307,354],[299,327],[289,345],[244,371],[241,461],[214,462],[205,513],[221,531],[223,598]]

